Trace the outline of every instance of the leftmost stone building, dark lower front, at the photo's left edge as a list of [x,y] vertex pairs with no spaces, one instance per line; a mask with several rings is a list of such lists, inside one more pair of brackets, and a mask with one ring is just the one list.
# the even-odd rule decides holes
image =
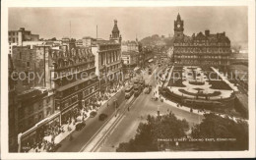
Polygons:
[[[49,48],[50,46],[45,45],[14,46],[13,55],[9,56],[12,62],[12,70],[9,68],[9,81],[13,82],[10,94],[12,96],[9,97],[9,102],[12,102],[9,104],[9,113],[15,122],[14,125],[9,125],[9,130],[16,139],[10,151],[17,151],[19,133],[27,133],[36,127],[29,136],[23,138],[35,141],[40,136],[37,133],[40,129],[37,125],[58,112],[54,108],[53,90],[49,88]],[[11,141],[9,144],[12,144]]]

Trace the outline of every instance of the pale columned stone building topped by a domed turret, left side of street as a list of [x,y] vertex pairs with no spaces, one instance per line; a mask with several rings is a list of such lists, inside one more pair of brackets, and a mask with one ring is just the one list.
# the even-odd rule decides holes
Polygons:
[[92,51],[96,56],[96,75],[99,77],[100,92],[113,87],[123,80],[121,61],[121,40],[114,21],[114,27],[110,40],[96,40],[96,46],[92,46]]

